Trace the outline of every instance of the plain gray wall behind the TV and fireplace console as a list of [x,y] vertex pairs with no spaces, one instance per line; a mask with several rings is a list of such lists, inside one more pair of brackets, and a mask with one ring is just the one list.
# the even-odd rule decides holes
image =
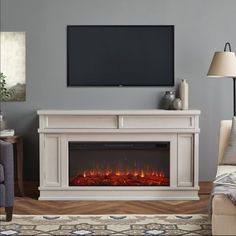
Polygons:
[[188,80],[200,109],[200,178],[217,163],[219,121],[232,117],[232,81],[206,78],[215,50],[236,49],[234,0],[2,0],[1,30],[26,31],[26,102],[2,104],[9,128],[24,137],[25,178],[38,178],[37,109],[151,109],[169,87],[67,88],[66,26],[174,24],[175,76]]

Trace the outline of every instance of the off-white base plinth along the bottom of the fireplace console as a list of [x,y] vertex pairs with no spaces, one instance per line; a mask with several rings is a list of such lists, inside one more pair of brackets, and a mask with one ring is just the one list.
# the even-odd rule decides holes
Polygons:
[[99,187],[40,188],[39,200],[199,200],[198,188]]

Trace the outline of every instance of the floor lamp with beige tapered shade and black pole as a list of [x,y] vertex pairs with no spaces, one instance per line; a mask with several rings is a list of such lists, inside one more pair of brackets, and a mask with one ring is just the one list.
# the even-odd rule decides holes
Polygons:
[[[227,47],[229,51],[227,51]],[[229,42],[225,44],[224,52],[215,52],[210,68],[207,73],[208,77],[224,77],[233,79],[233,94],[234,94],[234,116],[236,116],[236,56],[231,52]]]

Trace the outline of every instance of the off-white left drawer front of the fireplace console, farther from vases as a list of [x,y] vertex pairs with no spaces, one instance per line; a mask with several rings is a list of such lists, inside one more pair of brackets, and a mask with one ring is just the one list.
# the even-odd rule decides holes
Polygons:
[[89,115],[50,115],[45,116],[45,128],[116,129],[117,117]]

